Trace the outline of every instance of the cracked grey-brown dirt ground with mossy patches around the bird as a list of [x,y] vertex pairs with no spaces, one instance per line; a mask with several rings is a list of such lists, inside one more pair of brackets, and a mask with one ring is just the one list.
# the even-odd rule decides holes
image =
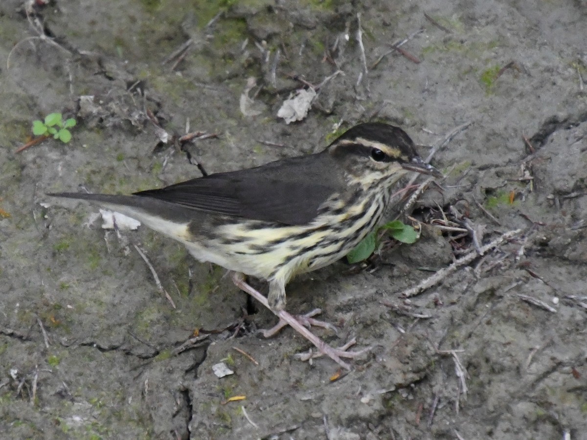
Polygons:
[[[1,438],[587,439],[585,1],[26,9],[0,3]],[[303,121],[276,117],[301,79],[338,70]],[[54,111],[76,118],[72,141],[15,154]],[[45,195],[246,168],[367,120],[419,145],[471,123],[434,156],[447,178],[414,212],[460,230],[424,225],[414,245],[288,286],[290,312],[320,307],[339,325],[316,330],[329,343],[371,347],[338,380],[331,360],[295,358],[309,344],[293,331],[259,337],[274,316],[221,268],[144,228],[104,232],[96,208]],[[180,144],[187,124],[218,136]],[[480,246],[521,232],[400,297],[474,252],[465,226]],[[217,378],[220,362],[234,374]]]

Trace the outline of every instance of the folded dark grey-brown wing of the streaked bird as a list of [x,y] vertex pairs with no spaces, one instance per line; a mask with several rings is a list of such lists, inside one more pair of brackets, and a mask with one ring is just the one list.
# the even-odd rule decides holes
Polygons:
[[302,225],[311,222],[319,206],[344,185],[342,170],[330,155],[318,153],[134,195],[215,214]]

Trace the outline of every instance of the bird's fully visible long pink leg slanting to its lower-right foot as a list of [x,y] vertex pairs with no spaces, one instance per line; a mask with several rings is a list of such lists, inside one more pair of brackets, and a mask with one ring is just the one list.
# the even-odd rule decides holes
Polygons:
[[[242,273],[238,273],[238,272],[233,273],[232,281],[234,282],[234,284],[237,287],[239,287],[239,289],[244,290],[249,295],[254,297],[258,302],[260,302],[265,307],[267,307],[269,310],[271,310],[271,307],[269,307],[269,303],[267,302],[267,299],[265,298],[265,296],[261,295],[261,293],[257,292],[257,290],[255,290],[251,286],[249,286],[248,283],[245,282],[244,275],[242,275]],[[304,327],[301,323],[299,323],[299,321],[296,320],[295,317],[293,317],[291,314],[289,314],[285,310],[279,310],[279,312],[276,312],[275,310],[271,310],[271,311],[276,314],[276,316],[280,320],[280,323],[281,323],[281,321],[284,321],[286,324],[288,324],[290,327],[292,327],[292,329],[297,331],[299,334],[301,334],[303,337],[305,337],[307,340],[309,340],[312,344],[314,344],[316,346],[316,348],[318,348],[320,353],[326,354],[326,356],[331,358],[333,361],[335,361],[337,364],[339,364],[341,367],[345,368],[346,370],[350,370],[350,365],[347,364],[345,361],[343,361],[341,359],[341,357],[353,358],[353,357],[356,357],[359,354],[363,354],[365,352],[365,350],[363,350],[363,351],[353,353],[353,352],[349,352],[349,351],[342,350],[339,348],[332,348],[328,344],[326,344],[324,341],[322,341],[318,336],[316,336],[311,331],[306,329],[306,327]]]

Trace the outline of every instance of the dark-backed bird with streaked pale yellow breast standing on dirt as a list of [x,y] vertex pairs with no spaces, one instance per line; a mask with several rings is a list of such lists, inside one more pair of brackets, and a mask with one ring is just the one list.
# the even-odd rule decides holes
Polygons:
[[[326,344],[286,312],[296,275],[343,258],[382,220],[394,185],[410,171],[441,177],[402,128],[380,122],[349,128],[319,153],[219,172],[132,195],[50,193],[137,219],[183,243],[191,255],[232,271],[239,289],[268,307],[347,370],[357,353]],[[269,283],[267,297],[245,276]],[[279,324],[278,324],[279,326]],[[278,327],[276,326],[276,327]],[[268,334],[272,334],[271,331]]]

